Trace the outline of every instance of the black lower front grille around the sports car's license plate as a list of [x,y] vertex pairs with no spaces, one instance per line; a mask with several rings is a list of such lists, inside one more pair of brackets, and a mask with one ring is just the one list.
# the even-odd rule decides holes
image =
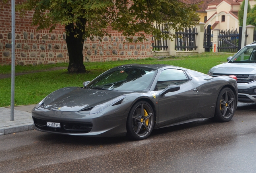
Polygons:
[[[35,127],[43,131],[49,132],[59,132],[59,133],[89,133],[93,128],[93,124],[86,122],[86,123],[68,123],[68,122],[58,122],[52,120],[42,120],[33,117],[33,121]],[[55,122],[60,123],[60,128],[55,127],[47,127],[47,122]]]

